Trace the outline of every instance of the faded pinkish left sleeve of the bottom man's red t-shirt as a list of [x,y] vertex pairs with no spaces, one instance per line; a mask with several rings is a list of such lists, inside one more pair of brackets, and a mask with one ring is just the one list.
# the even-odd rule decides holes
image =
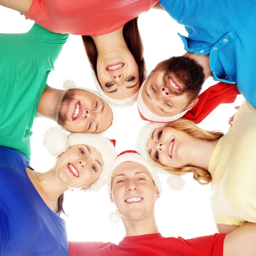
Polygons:
[[111,252],[111,243],[69,242],[70,256],[97,255],[107,256]]

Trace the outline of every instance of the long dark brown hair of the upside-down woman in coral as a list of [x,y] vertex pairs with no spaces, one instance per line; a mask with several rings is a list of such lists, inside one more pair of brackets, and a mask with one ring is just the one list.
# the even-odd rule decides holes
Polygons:
[[[123,36],[129,51],[134,56],[134,59],[139,67],[140,84],[142,84],[145,73],[145,60],[143,58],[144,49],[138,28],[138,17],[125,23],[123,28]],[[90,65],[96,75],[98,83],[100,84],[97,74],[98,52],[96,45],[93,38],[91,38],[89,35],[82,35],[82,40]]]

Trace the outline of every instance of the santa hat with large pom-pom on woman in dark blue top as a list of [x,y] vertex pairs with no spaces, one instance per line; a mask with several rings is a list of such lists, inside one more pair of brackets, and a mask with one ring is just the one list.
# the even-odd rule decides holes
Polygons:
[[67,151],[73,145],[84,144],[96,148],[101,154],[104,166],[102,173],[88,190],[98,191],[102,186],[109,182],[111,176],[111,167],[116,160],[115,140],[108,140],[99,134],[88,133],[67,133],[60,126],[49,128],[44,134],[43,145],[48,149],[49,153],[58,157]]

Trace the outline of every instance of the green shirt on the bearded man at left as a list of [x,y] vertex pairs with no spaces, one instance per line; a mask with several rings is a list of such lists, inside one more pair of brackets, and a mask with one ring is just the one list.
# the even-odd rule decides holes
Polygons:
[[28,160],[39,99],[68,36],[36,23],[27,33],[0,34],[0,145]]

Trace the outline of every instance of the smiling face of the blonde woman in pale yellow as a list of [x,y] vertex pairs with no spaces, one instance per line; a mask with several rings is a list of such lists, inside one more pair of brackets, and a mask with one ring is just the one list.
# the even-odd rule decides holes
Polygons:
[[184,131],[164,126],[151,134],[147,143],[151,158],[164,166],[180,168],[189,165],[194,150],[193,137]]

